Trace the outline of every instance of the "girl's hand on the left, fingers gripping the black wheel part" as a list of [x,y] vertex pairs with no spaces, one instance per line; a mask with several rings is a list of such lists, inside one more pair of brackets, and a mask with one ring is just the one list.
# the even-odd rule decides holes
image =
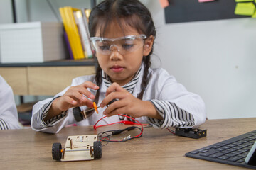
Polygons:
[[78,86],[70,86],[63,96],[60,96],[53,101],[49,112],[52,111],[53,114],[56,115],[56,113],[60,114],[63,111],[67,111],[69,108],[77,106],[93,108],[93,103],[90,99],[93,100],[95,96],[88,91],[87,88],[97,90],[99,89],[99,86],[90,81],[85,81],[85,83]]

